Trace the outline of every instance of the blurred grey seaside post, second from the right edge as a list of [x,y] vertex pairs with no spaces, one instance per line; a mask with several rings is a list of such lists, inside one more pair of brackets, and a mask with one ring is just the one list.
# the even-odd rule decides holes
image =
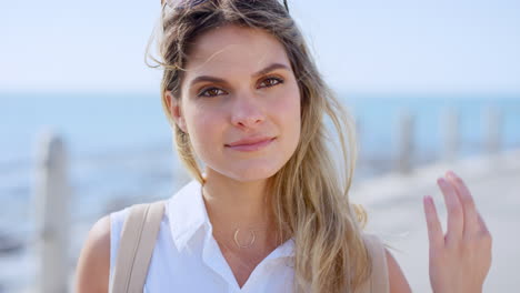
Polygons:
[[457,159],[460,144],[460,122],[457,111],[452,108],[444,110],[441,119],[443,137],[442,159],[453,162]]

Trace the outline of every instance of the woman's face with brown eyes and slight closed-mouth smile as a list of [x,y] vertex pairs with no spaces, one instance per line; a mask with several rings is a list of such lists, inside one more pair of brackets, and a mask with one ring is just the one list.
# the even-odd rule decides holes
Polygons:
[[199,37],[181,92],[173,117],[208,175],[262,180],[293,154],[300,92],[283,46],[269,33],[227,26]]

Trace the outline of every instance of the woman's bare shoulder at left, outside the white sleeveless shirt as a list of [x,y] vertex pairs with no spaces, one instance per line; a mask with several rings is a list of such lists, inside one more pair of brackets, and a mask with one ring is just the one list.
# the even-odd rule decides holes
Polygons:
[[110,274],[110,215],[98,220],[90,229],[81,250],[76,292],[108,292]]

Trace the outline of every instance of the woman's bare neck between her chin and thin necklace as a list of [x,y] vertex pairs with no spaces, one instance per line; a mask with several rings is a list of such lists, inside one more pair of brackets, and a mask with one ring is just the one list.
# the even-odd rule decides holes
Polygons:
[[257,243],[272,240],[276,233],[267,183],[267,179],[240,182],[207,170],[203,199],[214,236],[229,239],[240,229],[259,231]]

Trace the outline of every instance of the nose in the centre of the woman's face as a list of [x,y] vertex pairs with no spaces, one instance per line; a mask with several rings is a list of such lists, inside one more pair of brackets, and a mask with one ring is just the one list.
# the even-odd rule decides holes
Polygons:
[[264,111],[252,94],[238,97],[231,109],[231,123],[243,130],[256,128],[266,120]]

